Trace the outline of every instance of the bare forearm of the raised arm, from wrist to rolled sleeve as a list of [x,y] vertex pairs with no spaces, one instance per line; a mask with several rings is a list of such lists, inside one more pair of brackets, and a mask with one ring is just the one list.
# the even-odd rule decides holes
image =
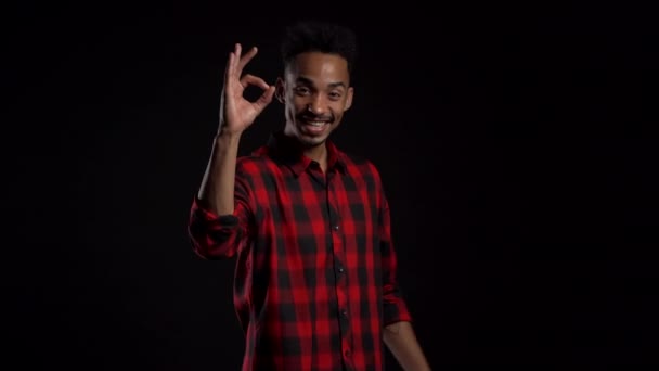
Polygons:
[[199,187],[198,199],[217,215],[233,214],[240,138],[240,133],[221,131],[215,137],[210,159]]

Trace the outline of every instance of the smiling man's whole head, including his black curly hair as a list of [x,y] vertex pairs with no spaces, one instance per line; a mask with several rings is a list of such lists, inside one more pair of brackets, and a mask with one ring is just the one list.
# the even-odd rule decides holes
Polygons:
[[276,98],[285,105],[284,131],[306,148],[324,145],[352,105],[354,34],[335,24],[301,22],[286,29],[281,51],[284,75]]

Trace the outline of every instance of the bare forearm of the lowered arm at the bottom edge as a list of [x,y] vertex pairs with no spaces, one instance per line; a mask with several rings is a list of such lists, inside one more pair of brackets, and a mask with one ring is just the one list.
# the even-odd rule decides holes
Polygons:
[[384,331],[384,341],[403,370],[430,370],[410,322],[402,321],[387,325]]

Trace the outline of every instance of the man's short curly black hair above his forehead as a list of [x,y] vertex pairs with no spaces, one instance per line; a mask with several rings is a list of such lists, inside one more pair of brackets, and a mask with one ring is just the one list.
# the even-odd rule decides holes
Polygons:
[[357,62],[356,34],[347,26],[318,20],[298,21],[285,29],[281,41],[284,66],[296,55],[314,51],[340,55],[351,74]]

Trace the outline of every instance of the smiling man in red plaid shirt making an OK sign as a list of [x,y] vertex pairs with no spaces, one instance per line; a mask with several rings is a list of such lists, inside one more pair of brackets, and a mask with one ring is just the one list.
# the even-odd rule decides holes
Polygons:
[[[352,105],[351,30],[298,23],[274,86],[229,54],[220,125],[189,231],[204,258],[236,256],[243,370],[382,370],[384,345],[405,370],[429,370],[396,280],[389,208],[377,169],[328,140]],[[248,86],[262,89],[256,101]],[[241,135],[276,97],[285,126],[253,155]]]

